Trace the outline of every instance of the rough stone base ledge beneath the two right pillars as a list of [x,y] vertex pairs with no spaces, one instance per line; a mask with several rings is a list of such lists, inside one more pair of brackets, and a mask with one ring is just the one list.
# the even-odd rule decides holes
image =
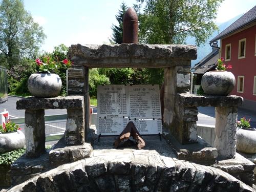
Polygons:
[[202,165],[214,166],[243,181],[249,186],[254,183],[253,169],[255,164],[236,153],[236,158],[221,160],[218,158],[217,149],[210,147],[208,143],[199,140],[195,144],[180,144],[172,135],[164,135],[172,145],[177,158],[192,161]]

